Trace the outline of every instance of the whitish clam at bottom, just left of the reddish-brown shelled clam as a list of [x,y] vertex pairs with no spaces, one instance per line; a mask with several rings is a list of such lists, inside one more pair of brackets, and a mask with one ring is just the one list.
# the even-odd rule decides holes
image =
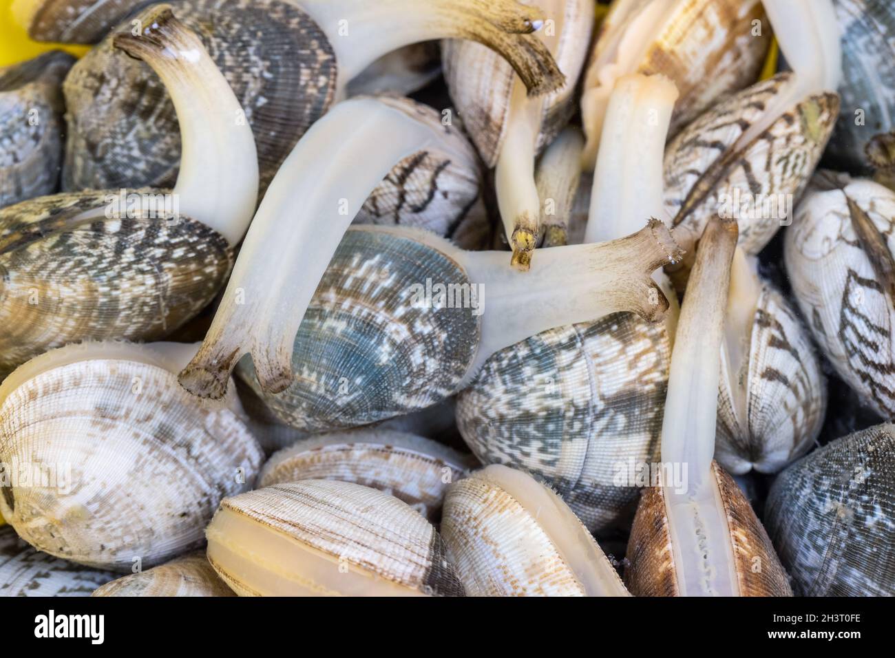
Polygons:
[[587,528],[548,487],[507,466],[451,485],[441,532],[474,596],[626,596]]

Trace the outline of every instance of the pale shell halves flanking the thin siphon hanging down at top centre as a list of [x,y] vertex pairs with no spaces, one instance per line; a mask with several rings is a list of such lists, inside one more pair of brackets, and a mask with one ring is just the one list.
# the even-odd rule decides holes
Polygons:
[[[551,8],[530,0],[521,2],[541,6],[545,12]],[[575,86],[593,29],[591,0],[564,0],[562,5],[565,7],[562,33],[558,35],[553,55],[566,76],[566,83],[544,98],[538,151],[553,141],[575,112]],[[441,48],[445,81],[457,112],[485,164],[494,167],[507,133],[510,98],[513,84],[518,81],[516,73],[506,60],[479,43],[445,39]]]

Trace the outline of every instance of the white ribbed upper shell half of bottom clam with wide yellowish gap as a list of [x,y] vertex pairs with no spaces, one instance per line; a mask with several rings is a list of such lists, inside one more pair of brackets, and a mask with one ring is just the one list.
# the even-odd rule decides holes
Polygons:
[[[342,560],[423,594],[464,594],[435,527],[382,491],[354,483],[306,480],[248,491],[223,500],[221,507],[320,551],[334,562],[333,568]],[[257,551],[251,545],[240,548]],[[295,560],[301,560],[299,549]],[[243,585],[251,588],[251,583]]]

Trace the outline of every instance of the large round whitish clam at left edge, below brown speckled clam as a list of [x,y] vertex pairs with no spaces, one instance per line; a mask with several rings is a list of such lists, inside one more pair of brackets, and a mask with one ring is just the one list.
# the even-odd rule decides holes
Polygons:
[[40,551],[97,568],[150,567],[200,547],[217,503],[262,455],[231,394],[203,402],[175,372],[196,346],[84,343],[0,385],[0,512]]

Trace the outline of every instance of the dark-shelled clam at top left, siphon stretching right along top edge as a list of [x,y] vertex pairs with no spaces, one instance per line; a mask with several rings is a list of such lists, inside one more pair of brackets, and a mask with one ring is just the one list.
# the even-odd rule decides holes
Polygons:
[[[547,50],[524,34],[538,13],[515,0],[386,0],[374,8],[364,0],[180,0],[175,11],[240,100],[243,114],[232,120],[251,125],[262,192],[295,142],[345,97],[348,81],[396,47],[473,38],[506,56],[533,90],[550,90],[558,77]],[[115,30],[131,24],[125,18]],[[112,37],[72,68],[65,98],[64,189],[174,180],[181,144],[173,107],[158,78],[117,52]]]

